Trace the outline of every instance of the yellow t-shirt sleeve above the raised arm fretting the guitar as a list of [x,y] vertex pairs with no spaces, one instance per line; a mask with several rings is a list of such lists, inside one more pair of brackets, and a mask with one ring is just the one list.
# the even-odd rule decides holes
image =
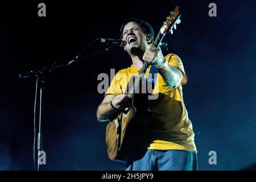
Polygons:
[[172,54],[168,54],[166,56],[166,60],[168,61],[168,64],[171,65],[172,67],[176,67],[176,68],[180,69],[180,71],[182,72],[182,75],[183,75],[181,84],[185,84],[187,82],[188,78],[184,71],[184,67],[183,67],[180,57],[172,53]]

